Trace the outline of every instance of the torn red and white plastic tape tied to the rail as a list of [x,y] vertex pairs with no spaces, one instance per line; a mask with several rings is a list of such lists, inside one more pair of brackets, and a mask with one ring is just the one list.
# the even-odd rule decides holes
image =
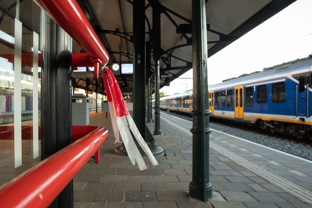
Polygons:
[[[135,161],[136,161],[138,163],[140,171],[146,170],[145,162],[131,136],[131,133],[130,133],[130,130],[131,130],[137,142],[139,143],[140,147],[149,157],[149,160],[152,162],[152,164],[158,165],[158,162],[156,161],[153,153],[149,149],[148,145],[145,143],[142,135],[139,133],[138,128],[136,127],[132,117],[129,114],[129,110],[124,102],[124,98],[121,94],[116,78],[114,77],[113,73],[111,72],[109,68],[106,67],[105,69],[108,75],[109,85],[108,85],[107,77],[104,71],[102,71],[102,75],[103,75],[104,87],[105,87],[106,94],[107,94],[107,99],[108,99],[109,104],[110,103],[114,104],[114,107],[115,107],[115,110],[112,110],[110,108],[110,114],[111,116],[112,114],[113,116],[114,114],[116,114],[116,117],[117,117],[116,120],[112,119],[112,124],[114,127],[114,125],[117,123],[117,129],[119,128],[119,132],[120,132],[122,141],[124,142],[124,146],[127,150],[130,161],[132,162],[133,165],[135,165]],[[128,127],[128,123],[129,123],[129,127]],[[117,133],[118,133],[118,130],[117,130]],[[114,130],[114,135],[115,135],[115,130]],[[115,136],[115,142],[116,142],[116,136]]]

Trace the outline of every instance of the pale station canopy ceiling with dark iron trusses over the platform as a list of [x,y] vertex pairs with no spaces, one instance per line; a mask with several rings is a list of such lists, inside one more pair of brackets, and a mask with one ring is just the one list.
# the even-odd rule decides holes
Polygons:
[[[149,41],[153,8],[156,0],[145,1],[145,41]],[[266,21],[295,0],[206,0],[208,57],[222,50],[239,37]],[[95,29],[109,53],[107,64],[133,62],[133,4],[132,0],[78,0],[80,7]],[[192,1],[159,0],[161,22],[160,88],[192,68]],[[257,41],[257,40],[255,40]],[[155,62],[151,48],[151,73]],[[73,53],[81,53],[73,41]],[[149,58],[149,57],[147,57]],[[226,59],[226,57],[225,57]],[[123,66],[123,69],[124,66]],[[213,70],[213,69],[212,69]],[[209,76],[209,71],[208,71]],[[132,92],[131,74],[115,72],[123,93]],[[76,79],[75,87],[95,92],[95,79]],[[105,94],[102,75],[98,80],[98,93]]]

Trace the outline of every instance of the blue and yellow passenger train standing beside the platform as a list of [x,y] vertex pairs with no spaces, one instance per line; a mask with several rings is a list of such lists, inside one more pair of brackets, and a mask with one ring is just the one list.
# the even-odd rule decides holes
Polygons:
[[[209,85],[211,117],[311,137],[312,55]],[[160,99],[161,109],[192,111],[192,91]]]

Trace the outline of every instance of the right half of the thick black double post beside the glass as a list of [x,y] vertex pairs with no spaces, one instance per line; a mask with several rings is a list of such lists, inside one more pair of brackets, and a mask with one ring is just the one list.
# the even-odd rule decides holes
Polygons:
[[[72,142],[71,37],[56,25],[56,151]],[[58,207],[74,207],[74,182],[57,196]]]

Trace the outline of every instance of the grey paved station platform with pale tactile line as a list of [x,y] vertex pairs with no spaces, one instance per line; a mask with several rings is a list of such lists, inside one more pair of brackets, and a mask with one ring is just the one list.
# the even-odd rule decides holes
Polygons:
[[[312,207],[312,161],[293,157],[213,130],[210,134],[210,181],[213,197],[202,202],[188,196],[192,180],[192,122],[161,113],[165,150],[158,166],[144,158],[140,172],[128,157],[114,154],[110,117],[90,112],[90,125],[106,127],[110,138],[100,164],[87,163],[74,177],[75,207]],[[147,123],[151,132],[154,123]]]

